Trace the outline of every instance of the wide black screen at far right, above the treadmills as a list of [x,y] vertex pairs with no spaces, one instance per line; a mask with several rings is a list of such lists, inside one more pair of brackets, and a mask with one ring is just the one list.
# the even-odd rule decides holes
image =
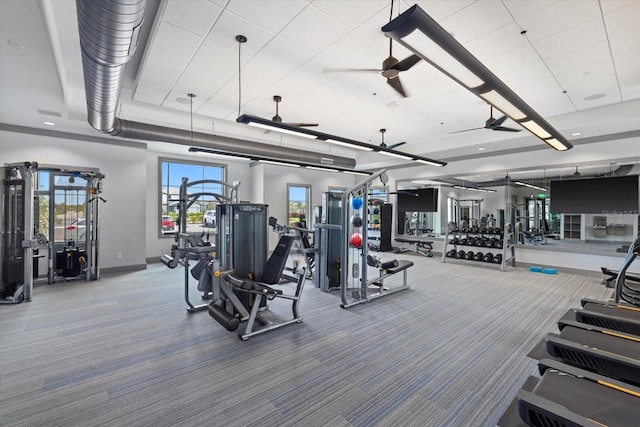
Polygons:
[[551,181],[553,213],[638,215],[638,175]]

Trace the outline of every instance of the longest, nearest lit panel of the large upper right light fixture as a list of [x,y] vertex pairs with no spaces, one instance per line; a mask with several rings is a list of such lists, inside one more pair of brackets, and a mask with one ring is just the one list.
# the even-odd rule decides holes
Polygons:
[[484,84],[481,78],[469,71],[467,67],[458,62],[458,60],[434,43],[429,37],[425,37],[419,30],[406,36],[403,41],[410,46],[415,46],[416,50],[424,53],[424,55],[418,54],[422,59],[431,63],[431,65],[443,73],[458,80],[459,83],[462,83],[468,89],[476,88]]

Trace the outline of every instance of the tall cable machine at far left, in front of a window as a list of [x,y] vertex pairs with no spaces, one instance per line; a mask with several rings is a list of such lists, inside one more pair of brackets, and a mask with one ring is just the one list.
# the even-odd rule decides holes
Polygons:
[[[0,303],[29,301],[34,284],[100,278],[102,179],[97,169],[0,167]],[[39,275],[41,258],[46,277]]]

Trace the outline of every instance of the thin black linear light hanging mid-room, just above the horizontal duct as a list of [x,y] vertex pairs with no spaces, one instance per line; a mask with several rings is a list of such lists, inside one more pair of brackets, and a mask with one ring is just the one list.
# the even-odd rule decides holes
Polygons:
[[446,166],[447,162],[440,160],[433,160],[427,157],[418,156],[416,154],[407,154],[397,150],[390,150],[388,148],[380,147],[379,145],[367,144],[366,142],[356,141],[354,139],[342,138],[336,135],[331,135],[324,132],[318,132],[311,129],[306,129],[299,126],[290,126],[279,122],[263,119],[262,117],[251,116],[249,114],[242,114],[236,119],[238,123],[244,123],[250,126],[257,126],[263,129],[269,129],[277,132],[284,132],[291,135],[302,136],[304,138],[318,139],[330,144],[342,145],[357,150],[374,151],[377,153],[386,154],[388,156],[394,156],[397,158],[420,162],[425,165],[442,167]]

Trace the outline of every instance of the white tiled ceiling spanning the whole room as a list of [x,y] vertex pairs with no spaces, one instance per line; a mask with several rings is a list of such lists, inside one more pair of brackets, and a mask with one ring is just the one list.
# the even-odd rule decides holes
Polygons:
[[[497,170],[543,167],[532,159],[532,149],[564,155],[559,162],[566,165],[640,159],[640,149],[595,149],[607,144],[609,134],[640,129],[640,1],[394,0],[394,16],[418,3],[574,140],[568,156],[526,131],[450,134],[483,126],[489,107],[424,61],[400,74],[407,98],[377,73],[337,71],[380,68],[389,53],[380,28],[389,20],[390,0],[148,3],[158,11],[146,20],[149,38],[128,69],[118,111],[125,119],[188,128],[190,107],[179,99],[194,93],[196,130],[353,156],[359,169],[398,164],[380,154],[235,123],[239,112],[271,118],[272,98],[280,95],[285,121],[317,122],[322,132],[371,143],[379,143],[379,129],[386,128],[387,144],[406,141],[399,150],[450,162],[437,171],[412,168],[419,174],[459,175],[457,160],[472,157],[490,158]],[[86,123],[75,2],[2,0],[0,12],[0,122],[47,128],[42,122],[51,120],[56,130],[95,135]],[[240,78],[238,34],[248,38],[241,46]],[[410,52],[395,43],[393,54],[403,59]],[[581,139],[591,143],[580,144]],[[523,153],[514,157],[514,149]]]

